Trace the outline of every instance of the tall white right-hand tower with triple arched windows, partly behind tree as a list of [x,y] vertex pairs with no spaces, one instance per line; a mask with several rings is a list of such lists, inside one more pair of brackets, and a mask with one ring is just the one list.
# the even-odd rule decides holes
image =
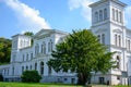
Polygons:
[[111,85],[128,84],[126,59],[126,26],[124,7],[119,0],[100,0],[92,8],[92,32],[98,37],[99,42],[108,47],[108,51],[115,52],[112,57],[117,61],[117,67],[111,69],[106,75],[99,74],[97,83]]

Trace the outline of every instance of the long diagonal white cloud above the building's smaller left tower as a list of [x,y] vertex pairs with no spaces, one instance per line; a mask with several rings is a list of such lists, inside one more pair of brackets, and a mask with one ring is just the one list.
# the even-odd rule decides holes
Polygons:
[[49,24],[45,18],[39,16],[39,11],[22,3],[20,0],[4,0],[5,4],[10,7],[20,21],[22,32],[38,32],[41,28],[49,29]]

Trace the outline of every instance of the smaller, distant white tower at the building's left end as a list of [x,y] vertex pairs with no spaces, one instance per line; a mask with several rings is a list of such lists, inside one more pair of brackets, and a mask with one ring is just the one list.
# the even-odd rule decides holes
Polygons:
[[15,35],[12,36],[12,50],[11,50],[11,66],[10,75],[13,77],[16,76],[13,80],[20,80],[20,66],[21,66],[21,49],[31,47],[32,37],[25,35]]

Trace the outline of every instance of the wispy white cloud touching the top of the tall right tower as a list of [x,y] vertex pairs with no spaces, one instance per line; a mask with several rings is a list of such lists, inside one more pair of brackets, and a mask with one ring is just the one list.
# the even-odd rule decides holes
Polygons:
[[94,1],[97,0],[69,0],[69,9],[71,11],[81,9],[82,16],[84,16],[87,22],[91,22],[91,8],[88,5]]

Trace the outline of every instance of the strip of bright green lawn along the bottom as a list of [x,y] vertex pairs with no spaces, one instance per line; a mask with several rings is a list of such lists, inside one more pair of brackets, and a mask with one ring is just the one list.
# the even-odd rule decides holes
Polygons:
[[[0,82],[0,87],[83,87],[78,85],[66,85],[66,84],[28,84],[28,83],[3,83]],[[93,87],[131,87],[131,86],[106,86],[95,85]]]

